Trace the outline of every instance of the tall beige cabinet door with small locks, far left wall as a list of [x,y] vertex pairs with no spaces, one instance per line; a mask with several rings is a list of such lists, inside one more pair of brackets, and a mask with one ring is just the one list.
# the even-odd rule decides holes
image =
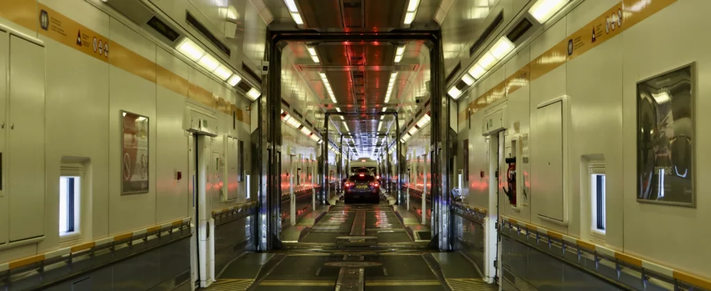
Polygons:
[[45,231],[44,60],[43,47],[10,36],[10,241]]

